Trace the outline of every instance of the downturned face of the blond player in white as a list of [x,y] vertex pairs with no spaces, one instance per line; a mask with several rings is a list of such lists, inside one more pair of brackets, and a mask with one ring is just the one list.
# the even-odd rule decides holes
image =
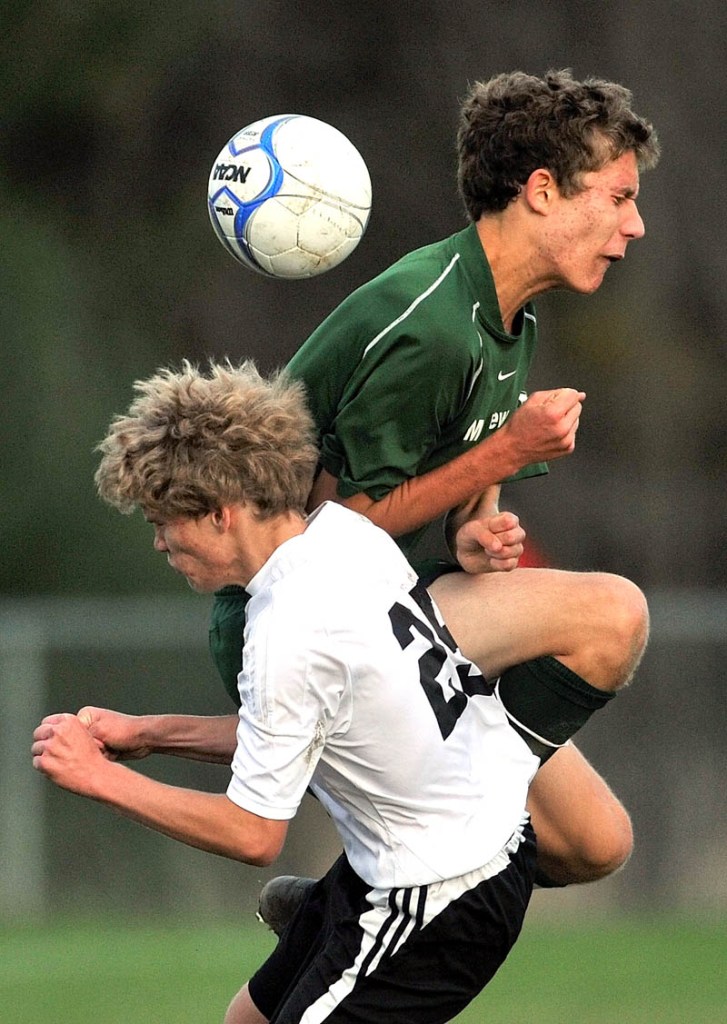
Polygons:
[[154,526],[155,550],[166,552],[171,567],[186,577],[193,590],[209,594],[223,585],[229,562],[213,513],[197,519],[146,518]]

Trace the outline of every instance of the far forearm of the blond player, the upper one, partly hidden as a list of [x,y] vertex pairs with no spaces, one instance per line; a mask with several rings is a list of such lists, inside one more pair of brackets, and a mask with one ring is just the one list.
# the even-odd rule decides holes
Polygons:
[[139,738],[154,754],[228,765],[237,745],[238,716],[143,715]]

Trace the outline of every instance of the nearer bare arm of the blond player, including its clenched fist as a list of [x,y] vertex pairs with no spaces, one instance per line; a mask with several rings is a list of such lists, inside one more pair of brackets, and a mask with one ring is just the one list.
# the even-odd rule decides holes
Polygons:
[[76,715],[51,715],[33,734],[33,767],[56,785],[219,856],[264,866],[285,842],[287,822],[261,818],[224,794],[167,785],[103,757]]

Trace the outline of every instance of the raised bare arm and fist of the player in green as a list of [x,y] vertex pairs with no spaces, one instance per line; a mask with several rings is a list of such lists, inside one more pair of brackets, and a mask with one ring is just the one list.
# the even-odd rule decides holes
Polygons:
[[469,452],[404,480],[380,501],[364,493],[341,499],[334,477],[322,470],[308,507],[312,510],[323,501],[338,501],[392,537],[400,537],[477,498],[524,466],[570,455],[585,398],[585,392],[573,388],[537,391],[499,430]]

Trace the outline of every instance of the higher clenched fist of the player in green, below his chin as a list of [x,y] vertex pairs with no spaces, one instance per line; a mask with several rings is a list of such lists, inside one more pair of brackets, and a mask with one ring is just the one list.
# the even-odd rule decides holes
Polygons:
[[570,455],[581,422],[585,391],[570,387],[534,391],[505,422],[520,462],[549,462]]

